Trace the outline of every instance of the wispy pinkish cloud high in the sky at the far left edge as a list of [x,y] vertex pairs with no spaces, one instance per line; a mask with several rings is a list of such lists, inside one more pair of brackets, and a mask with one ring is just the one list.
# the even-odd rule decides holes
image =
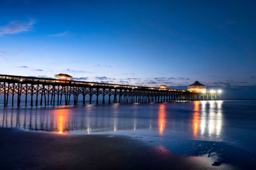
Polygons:
[[34,19],[29,19],[28,21],[10,21],[9,24],[0,27],[0,36],[31,31],[32,25],[34,24]]

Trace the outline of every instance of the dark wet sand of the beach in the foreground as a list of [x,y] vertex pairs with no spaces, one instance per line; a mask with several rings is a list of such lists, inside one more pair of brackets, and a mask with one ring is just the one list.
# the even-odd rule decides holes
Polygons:
[[1,128],[0,136],[0,169],[216,169],[207,162],[123,135]]

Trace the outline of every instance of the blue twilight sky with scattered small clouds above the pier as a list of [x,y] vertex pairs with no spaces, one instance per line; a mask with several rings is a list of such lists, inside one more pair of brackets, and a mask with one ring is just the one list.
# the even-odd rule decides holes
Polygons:
[[0,74],[181,89],[198,80],[226,98],[255,98],[255,8],[256,1],[0,0]]

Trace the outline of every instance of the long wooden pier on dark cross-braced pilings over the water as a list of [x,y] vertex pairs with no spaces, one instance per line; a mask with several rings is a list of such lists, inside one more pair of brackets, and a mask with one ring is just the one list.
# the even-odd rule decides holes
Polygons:
[[[1,95],[4,97],[2,98]],[[89,104],[92,103],[93,97],[96,97],[96,104],[99,104],[99,97],[102,97],[103,104],[106,101],[107,103],[151,103],[220,98],[218,92],[203,93],[158,87],[0,75],[0,101],[3,100],[4,107],[20,106],[21,96],[24,96],[26,106],[28,104],[30,106],[68,105],[70,101],[76,105],[79,104],[79,96],[82,97],[82,104],[86,104],[87,97]]]

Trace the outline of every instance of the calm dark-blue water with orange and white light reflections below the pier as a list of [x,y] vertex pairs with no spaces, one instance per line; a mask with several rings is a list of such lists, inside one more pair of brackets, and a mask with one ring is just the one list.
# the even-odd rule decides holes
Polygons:
[[[0,107],[0,127],[68,134],[121,134],[213,166],[256,161],[256,101]],[[242,166],[241,166],[242,165]]]

